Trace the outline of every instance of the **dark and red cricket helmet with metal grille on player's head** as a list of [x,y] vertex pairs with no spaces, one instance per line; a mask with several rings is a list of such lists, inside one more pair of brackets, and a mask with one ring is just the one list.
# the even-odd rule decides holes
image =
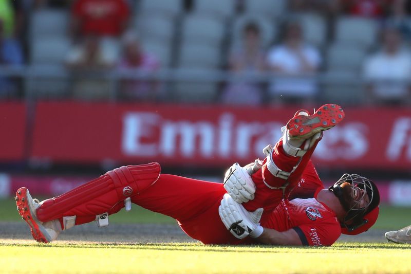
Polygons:
[[[353,201],[349,206],[344,203],[341,185],[348,182],[352,189],[359,188],[365,190],[364,195],[368,195],[369,202],[364,207],[360,207],[360,200]],[[380,193],[376,184],[358,174],[344,174],[333,186],[329,188],[340,199],[344,210],[347,212],[343,222],[340,223],[342,233],[357,235],[367,231],[373,226],[378,218],[380,211]]]

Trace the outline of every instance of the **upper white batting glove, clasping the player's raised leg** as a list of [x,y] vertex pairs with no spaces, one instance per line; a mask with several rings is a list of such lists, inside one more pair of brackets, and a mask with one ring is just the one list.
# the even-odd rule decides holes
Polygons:
[[254,199],[255,184],[247,169],[234,163],[224,177],[224,188],[237,203],[247,203]]

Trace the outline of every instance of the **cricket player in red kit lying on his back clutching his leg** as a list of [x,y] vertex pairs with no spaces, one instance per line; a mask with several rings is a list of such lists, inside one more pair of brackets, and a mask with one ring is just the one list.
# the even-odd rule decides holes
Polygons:
[[310,161],[322,132],[343,118],[335,104],[312,115],[298,111],[283,137],[264,149],[264,161],[245,168],[235,163],[225,184],[160,174],[156,162],[123,166],[41,203],[20,188],[18,213],[33,238],[44,243],[74,225],[106,226],[108,215],[135,203],[175,218],[204,244],[332,245],[341,233],[371,227],[380,201],[376,185],[359,175],[344,174],[324,189]]

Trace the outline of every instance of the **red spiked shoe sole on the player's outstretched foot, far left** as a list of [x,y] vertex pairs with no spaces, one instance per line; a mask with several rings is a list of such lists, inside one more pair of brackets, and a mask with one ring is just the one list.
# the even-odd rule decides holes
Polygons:
[[16,192],[16,205],[18,214],[22,216],[23,220],[30,227],[31,235],[34,240],[39,243],[49,243],[51,242],[50,236],[48,235],[46,229],[43,227],[41,222],[37,219],[35,215],[35,208],[30,206],[29,201],[32,201],[31,195],[27,188],[19,188]]

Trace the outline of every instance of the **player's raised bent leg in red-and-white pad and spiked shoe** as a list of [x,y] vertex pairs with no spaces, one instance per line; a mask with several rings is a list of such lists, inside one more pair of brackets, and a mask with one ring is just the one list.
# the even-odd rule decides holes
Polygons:
[[274,209],[301,178],[322,132],[343,119],[344,111],[336,104],[325,104],[312,115],[305,109],[297,111],[283,127],[283,137],[274,147],[265,149],[267,157],[261,163],[260,171],[252,175],[256,185],[255,197],[244,207],[248,211],[260,207],[266,212]]

